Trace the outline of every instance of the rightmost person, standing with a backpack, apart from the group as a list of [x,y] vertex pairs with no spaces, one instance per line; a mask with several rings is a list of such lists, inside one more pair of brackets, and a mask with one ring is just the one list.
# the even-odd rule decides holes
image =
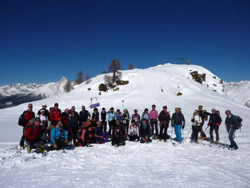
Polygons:
[[229,136],[229,140],[230,140],[230,149],[234,149],[237,150],[238,146],[236,144],[236,142],[234,141],[234,137],[235,137],[235,131],[239,126],[239,121],[238,119],[231,113],[230,110],[226,110],[226,120],[225,120],[225,125],[226,125],[226,129],[228,132],[228,136]]

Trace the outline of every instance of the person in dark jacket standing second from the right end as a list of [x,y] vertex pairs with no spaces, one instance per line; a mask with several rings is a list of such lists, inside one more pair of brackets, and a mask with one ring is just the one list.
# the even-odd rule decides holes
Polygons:
[[209,121],[208,121],[208,126],[210,126],[210,142],[214,143],[214,137],[213,137],[213,132],[215,130],[216,134],[216,141],[215,144],[219,143],[219,126],[221,124],[221,117],[219,114],[216,113],[216,109],[212,109],[212,113],[210,114]]

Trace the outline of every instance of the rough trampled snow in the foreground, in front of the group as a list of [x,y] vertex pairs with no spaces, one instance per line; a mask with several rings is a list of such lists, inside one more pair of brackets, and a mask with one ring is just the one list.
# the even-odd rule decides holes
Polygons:
[[249,187],[249,145],[239,145],[107,143],[45,157],[22,151],[13,159],[7,157],[15,151],[2,147],[0,187]]

